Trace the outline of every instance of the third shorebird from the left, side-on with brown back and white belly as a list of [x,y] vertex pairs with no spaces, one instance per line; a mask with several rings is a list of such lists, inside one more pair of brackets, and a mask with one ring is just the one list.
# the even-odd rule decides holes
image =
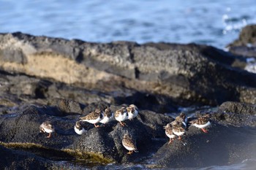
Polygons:
[[99,109],[95,109],[95,112],[89,113],[89,115],[86,115],[85,117],[80,117],[80,121],[86,121],[91,124],[94,124],[95,128],[98,128],[99,125],[96,125],[96,123],[99,123],[100,120],[102,120],[103,114]]

